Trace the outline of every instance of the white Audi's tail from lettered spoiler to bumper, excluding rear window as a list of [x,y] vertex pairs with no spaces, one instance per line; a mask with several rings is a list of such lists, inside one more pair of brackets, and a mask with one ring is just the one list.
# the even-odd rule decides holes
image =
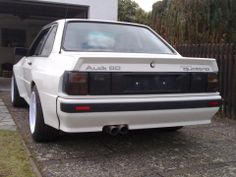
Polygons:
[[[111,125],[147,129],[207,124],[221,104],[214,59],[80,60],[74,71],[65,71],[57,101],[60,129],[66,132],[102,131]],[[105,66],[94,64],[98,60]]]

